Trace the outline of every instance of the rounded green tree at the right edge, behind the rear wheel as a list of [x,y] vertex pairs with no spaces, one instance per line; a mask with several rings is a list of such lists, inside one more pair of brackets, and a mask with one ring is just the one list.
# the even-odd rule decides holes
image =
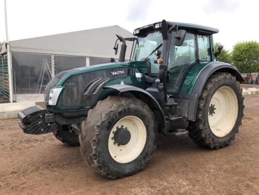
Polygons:
[[259,42],[239,42],[233,46],[233,64],[241,73],[259,72]]

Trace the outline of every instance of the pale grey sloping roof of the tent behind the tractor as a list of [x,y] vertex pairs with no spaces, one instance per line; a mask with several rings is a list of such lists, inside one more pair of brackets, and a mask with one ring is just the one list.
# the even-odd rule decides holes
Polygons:
[[[114,55],[112,49],[117,39],[116,35],[122,37],[133,37],[132,33],[120,26],[108,26],[83,31],[21,39],[10,41],[12,52],[55,54],[69,56],[86,56],[98,58],[119,58]],[[127,43],[127,55],[129,58],[131,46]]]

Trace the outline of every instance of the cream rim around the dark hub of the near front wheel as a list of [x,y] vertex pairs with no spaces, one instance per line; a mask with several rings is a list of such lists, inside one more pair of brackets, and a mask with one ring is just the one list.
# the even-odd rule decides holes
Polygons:
[[[126,128],[130,132],[130,141],[126,145],[114,144],[114,133],[117,127]],[[108,140],[108,148],[111,157],[119,163],[128,163],[135,160],[142,152],[147,139],[147,131],[143,121],[135,116],[121,118],[112,128]]]

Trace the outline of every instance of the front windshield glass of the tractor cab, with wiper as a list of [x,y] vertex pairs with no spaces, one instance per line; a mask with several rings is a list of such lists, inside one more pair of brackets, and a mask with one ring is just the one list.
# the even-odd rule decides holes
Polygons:
[[[144,61],[148,55],[163,42],[161,31],[149,33],[146,37],[138,37],[137,48],[134,55],[135,61]],[[161,52],[163,47],[160,47]],[[151,73],[159,72],[159,64],[154,63],[157,59],[155,52],[149,57],[148,62],[151,64]]]

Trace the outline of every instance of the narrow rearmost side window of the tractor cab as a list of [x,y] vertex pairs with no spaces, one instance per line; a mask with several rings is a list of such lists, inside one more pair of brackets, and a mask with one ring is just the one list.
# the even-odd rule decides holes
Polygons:
[[210,44],[208,35],[198,35],[198,50],[200,61],[210,61]]

